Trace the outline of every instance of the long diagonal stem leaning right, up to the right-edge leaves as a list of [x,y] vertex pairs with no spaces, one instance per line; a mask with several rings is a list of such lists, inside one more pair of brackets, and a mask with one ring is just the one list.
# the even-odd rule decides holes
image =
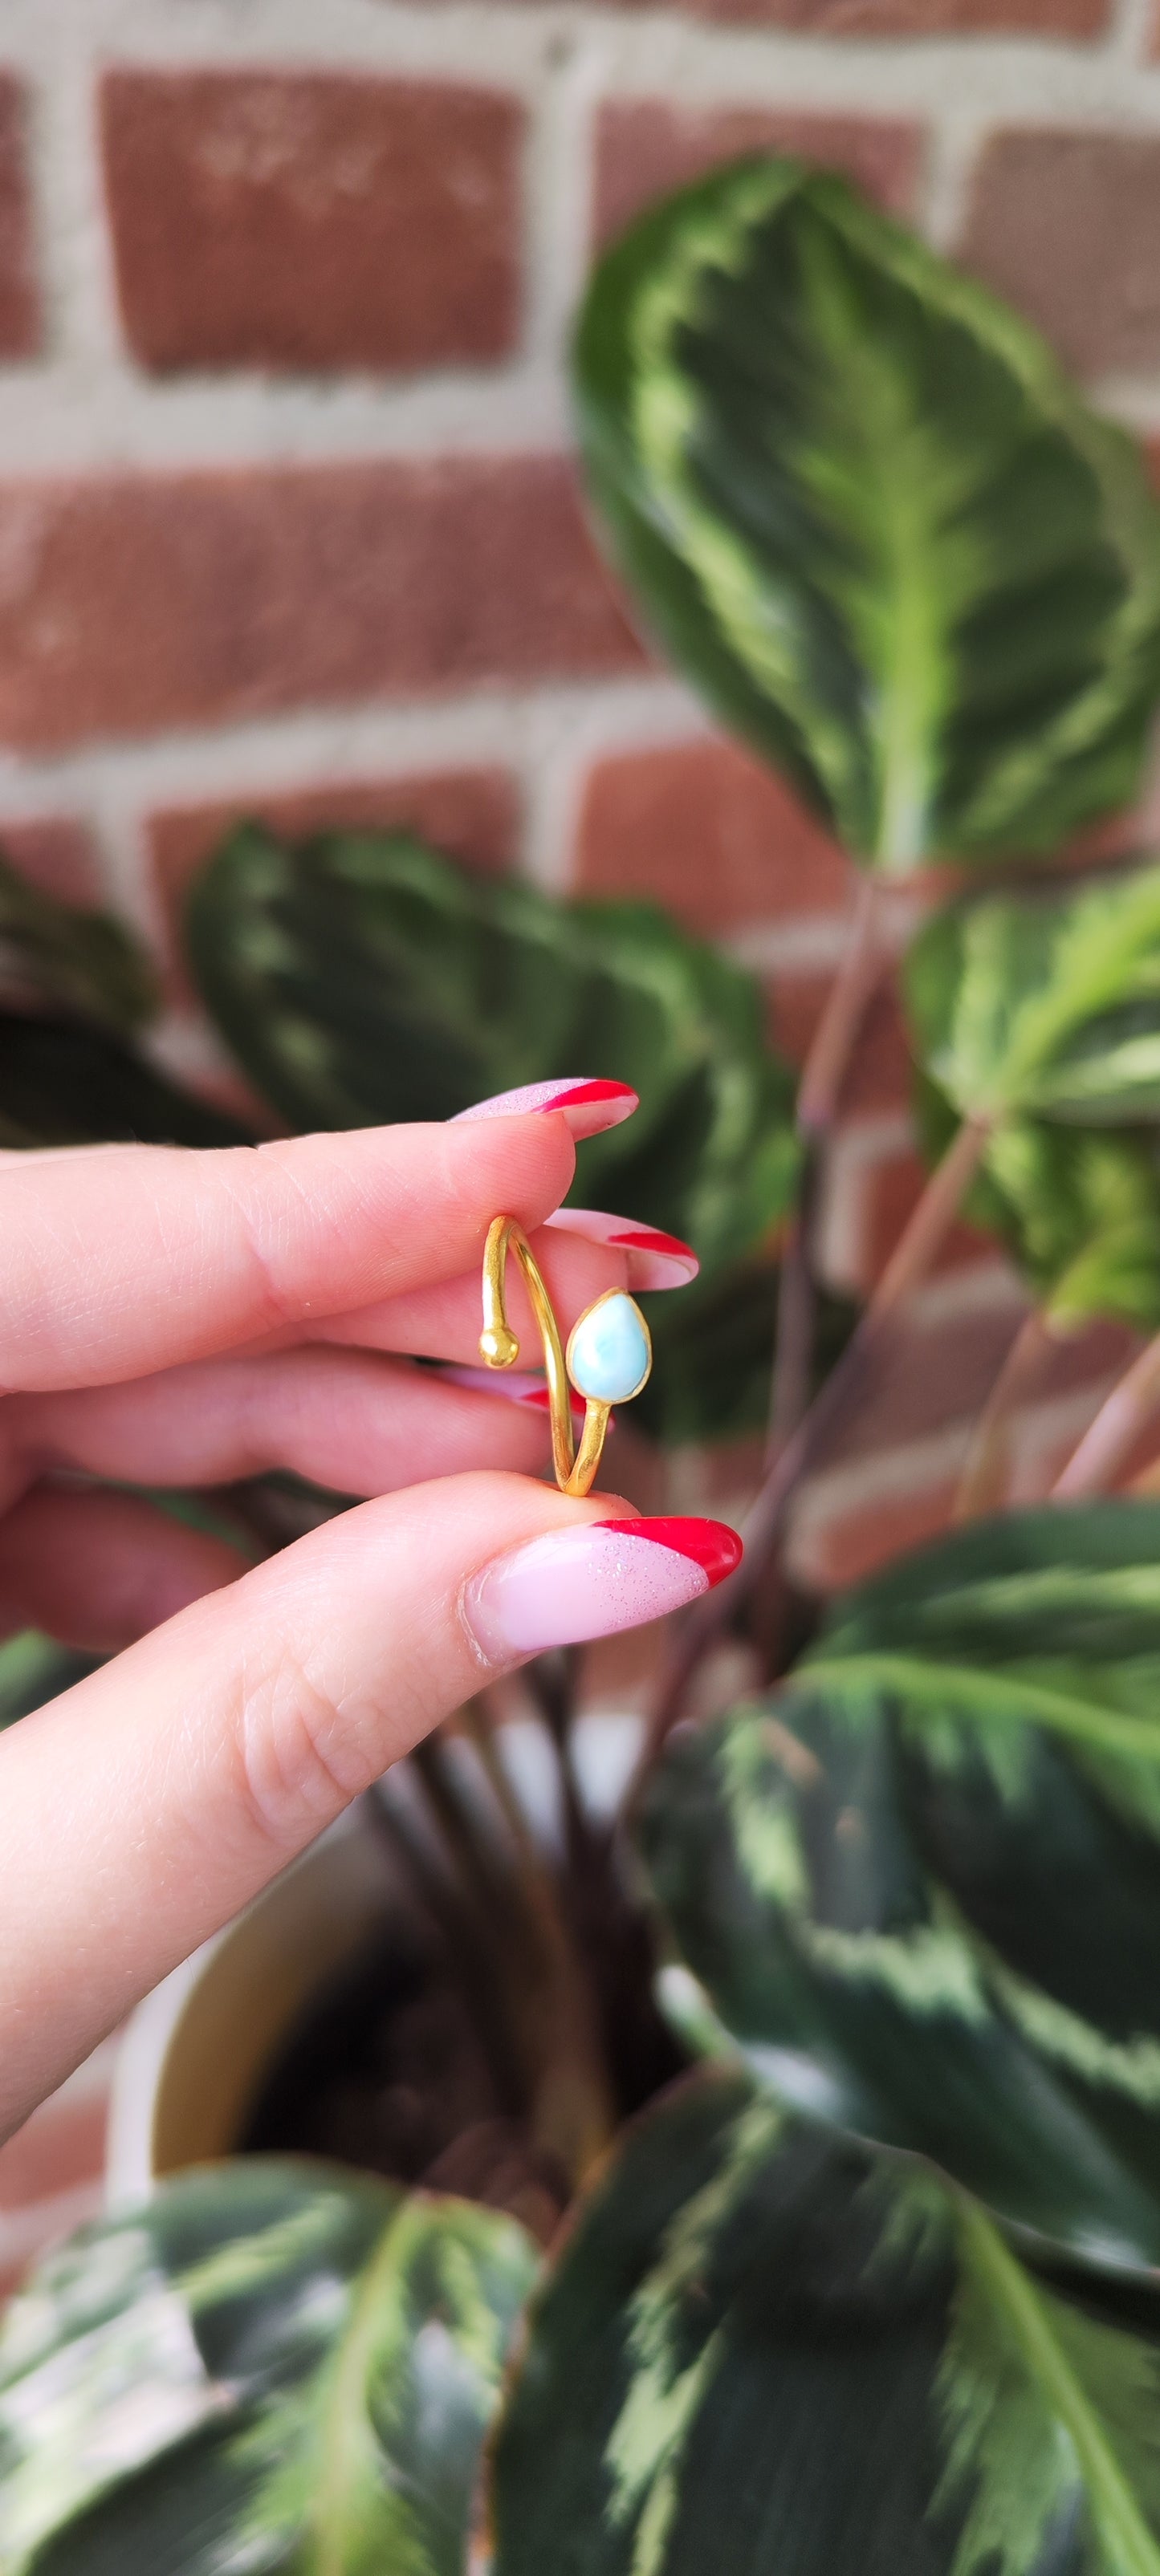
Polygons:
[[807,1476],[815,1466],[827,1432],[833,1432],[840,1414],[861,1391],[869,1365],[879,1355],[884,1327],[910,1291],[920,1285],[949,1229],[954,1226],[959,1206],[980,1167],[987,1136],[987,1118],[964,1118],[962,1128],[946,1146],[943,1159],[931,1172],[918,1208],[902,1229],[861,1324],[851,1334],[838,1365],[815,1396],[809,1412],[797,1425],[797,1432],[784,1443],[745,1517],[745,1564],[688,1613],[652,1710],[644,1762],[650,1762],[665,1741],[670,1726],[675,1726],[688,1682],[709,1646],[732,1623],[750,1592],[766,1582],[768,1566],[781,1548],[781,1530],[802,1476]]

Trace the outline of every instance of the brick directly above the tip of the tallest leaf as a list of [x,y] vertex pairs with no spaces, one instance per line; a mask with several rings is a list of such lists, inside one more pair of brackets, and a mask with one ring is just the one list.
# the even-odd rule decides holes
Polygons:
[[601,108],[595,129],[595,237],[606,242],[650,198],[740,152],[799,152],[827,162],[894,214],[905,214],[915,198],[923,131],[900,118],[616,100]]

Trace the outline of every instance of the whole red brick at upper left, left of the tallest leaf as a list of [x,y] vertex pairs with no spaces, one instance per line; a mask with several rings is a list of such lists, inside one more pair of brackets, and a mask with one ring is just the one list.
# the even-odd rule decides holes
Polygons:
[[142,366],[410,368],[513,345],[516,98],[330,72],[113,70],[101,124]]

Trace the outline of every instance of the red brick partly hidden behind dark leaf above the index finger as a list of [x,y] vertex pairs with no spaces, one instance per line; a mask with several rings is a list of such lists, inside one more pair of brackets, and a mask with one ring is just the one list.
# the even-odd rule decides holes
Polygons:
[[150,817],[150,850],[173,940],[173,999],[191,999],[180,974],[180,909],[186,886],[235,822],[253,817],[304,840],[343,827],[400,829],[472,868],[505,868],[516,858],[518,796],[508,770],[438,770],[420,778],[348,781],[296,788],[289,796],[235,796],[222,804],[168,806]]

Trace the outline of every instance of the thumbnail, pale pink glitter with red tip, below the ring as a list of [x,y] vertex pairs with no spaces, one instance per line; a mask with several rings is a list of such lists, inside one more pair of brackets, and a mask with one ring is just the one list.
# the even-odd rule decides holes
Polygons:
[[642,1628],[740,1564],[722,1520],[590,1520],[500,1556],[469,1582],[464,1618],[490,1664]]

